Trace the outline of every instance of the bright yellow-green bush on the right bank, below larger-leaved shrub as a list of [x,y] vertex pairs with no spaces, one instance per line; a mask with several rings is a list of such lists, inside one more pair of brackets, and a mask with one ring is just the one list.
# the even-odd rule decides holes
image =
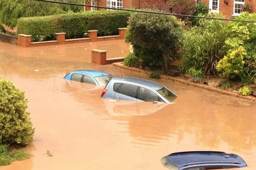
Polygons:
[[242,46],[237,47],[235,50],[229,50],[228,54],[217,65],[218,71],[221,72],[220,76],[229,79],[240,77],[243,72],[243,56],[245,54],[246,52]]

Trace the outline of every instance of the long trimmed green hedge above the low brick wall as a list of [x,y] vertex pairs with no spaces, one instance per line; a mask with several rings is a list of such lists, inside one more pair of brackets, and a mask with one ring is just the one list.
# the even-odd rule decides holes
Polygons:
[[118,28],[127,27],[130,15],[126,11],[88,11],[20,18],[17,33],[32,35],[33,41],[54,40],[55,33],[61,32],[67,33],[66,39],[82,38],[88,30],[98,30],[98,36],[118,35]]

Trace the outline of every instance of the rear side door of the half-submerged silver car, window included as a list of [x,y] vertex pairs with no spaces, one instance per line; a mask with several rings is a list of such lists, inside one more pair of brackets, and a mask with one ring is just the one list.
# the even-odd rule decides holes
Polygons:
[[123,83],[117,89],[113,99],[137,101],[137,92],[138,92],[138,86]]

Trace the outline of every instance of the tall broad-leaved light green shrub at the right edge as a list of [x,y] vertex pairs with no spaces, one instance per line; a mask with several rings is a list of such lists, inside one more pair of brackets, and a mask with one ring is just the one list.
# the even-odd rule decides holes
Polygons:
[[[256,20],[256,13],[242,12],[235,19]],[[245,80],[256,74],[256,25],[250,22],[231,21],[225,28],[225,34],[228,36],[226,46],[231,51],[242,46],[245,49],[243,60],[244,67],[239,78]]]

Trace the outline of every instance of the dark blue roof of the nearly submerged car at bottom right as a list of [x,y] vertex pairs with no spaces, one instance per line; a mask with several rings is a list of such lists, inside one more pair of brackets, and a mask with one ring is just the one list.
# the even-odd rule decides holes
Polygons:
[[192,164],[204,163],[234,163],[246,164],[238,155],[227,154],[225,152],[216,151],[195,151],[195,152],[178,152],[167,156],[169,160],[179,167]]

